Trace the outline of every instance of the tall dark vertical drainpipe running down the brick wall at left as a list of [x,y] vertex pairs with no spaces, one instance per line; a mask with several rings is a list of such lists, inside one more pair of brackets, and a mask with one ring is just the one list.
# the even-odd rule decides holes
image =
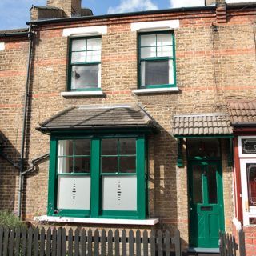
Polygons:
[[30,24],[28,31],[29,42],[29,55],[27,61],[27,70],[26,70],[26,92],[24,99],[24,108],[23,108],[23,124],[22,124],[22,146],[21,146],[21,159],[20,159],[20,168],[19,168],[19,185],[18,185],[18,218],[22,217],[22,189],[23,189],[23,170],[24,170],[24,153],[25,153],[25,142],[26,142],[26,115],[28,107],[28,97],[30,93],[30,66],[31,66],[31,55],[32,55],[32,41],[33,41],[33,32],[32,25]]

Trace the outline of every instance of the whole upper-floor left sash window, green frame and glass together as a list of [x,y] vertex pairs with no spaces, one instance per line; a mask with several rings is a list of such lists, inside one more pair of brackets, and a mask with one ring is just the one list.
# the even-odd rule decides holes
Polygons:
[[100,88],[101,51],[102,38],[70,39],[69,90]]

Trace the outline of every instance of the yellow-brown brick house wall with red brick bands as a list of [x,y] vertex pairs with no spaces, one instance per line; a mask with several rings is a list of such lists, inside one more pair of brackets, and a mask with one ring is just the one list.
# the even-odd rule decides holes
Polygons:
[[[170,14],[143,14],[120,18],[92,18],[90,20],[38,26],[34,39],[32,75],[30,81],[30,111],[26,152],[28,159],[49,152],[49,136],[35,130],[42,122],[68,106],[109,103],[140,103],[160,124],[160,134],[149,138],[150,217],[160,219],[156,228],[181,230],[182,242],[188,242],[188,199],[186,159],[183,168],[176,166],[177,143],[172,134],[174,114],[206,114],[226,110],[229,99],[255,98],[255,14],[249,10],[230,10],[228,22],[216,23],[214,10]],[[137,33],[130,30],[130,22],[179,19],[180,27],[174,30],[177,58],[176,93],[134,94],[138,87]],[[68,38],[62,30],[76,26],[107,25],[102,35],[102,90],[105,96],[63,98],[66,90]],[[17,48],[0,52],[8,60],[2,71],[1,130],[7,135],[10,155],[16,156],[20,145],[22,97],[25,88],[27,42],[18,42]],[[23,49],[24,48],[24,49]],[[12,62],[9,62],[9,55]],[[17,58],[21,54],[20,58]],[[0,57],[1,58],[1,57]],[[8,64],[7,64],[8,63]],[[23,72],[24,74],[20,74]],[[14,74],[14,75],[13,75]],[[18,75],[17,75],[18,74]],[[14,81],[15,79],[15,81]],[[250,94],[248,93],[250,91]],[[3,102],[2,102],[3,101]],[[5,108],[8,106],[7,108]],[[227,167],[226,140],[222,140],[223,192],[226,231],[232,230],[234,217],[232,170]],[[184,155],[186,149],[184,145]],[[1,159],[1,163],[3,160]],[[23,200],[23,218],[33,221],[46,214],[48,193],[48,162],[26,177]],[[17,172],[6,162],[1,176],[2,184],[12,188],[14,194]],[[10,184],[11,183],[11,184]],[[13,194],[13,195],[14,195]],[[14,198],[17,194],[14,195]],[[10,202],[10,193],[2,194],[4,208]],[[2,202],[5,202],[2,204]],[[12,208],[17,210],[14,199]],[[140,228],[140,226],[134,227]]]

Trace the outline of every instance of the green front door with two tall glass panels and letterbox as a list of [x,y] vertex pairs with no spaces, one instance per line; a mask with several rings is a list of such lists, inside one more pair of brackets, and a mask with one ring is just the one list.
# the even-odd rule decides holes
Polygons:
[[222,168],[220,161],[189,162],[190,246],[218,247],[224,230]]

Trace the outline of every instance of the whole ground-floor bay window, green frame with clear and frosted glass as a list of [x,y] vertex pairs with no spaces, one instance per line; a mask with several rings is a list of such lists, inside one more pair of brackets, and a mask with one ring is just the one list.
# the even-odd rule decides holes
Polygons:
[[146,218],[144,135],[51,136],[48,215]]

